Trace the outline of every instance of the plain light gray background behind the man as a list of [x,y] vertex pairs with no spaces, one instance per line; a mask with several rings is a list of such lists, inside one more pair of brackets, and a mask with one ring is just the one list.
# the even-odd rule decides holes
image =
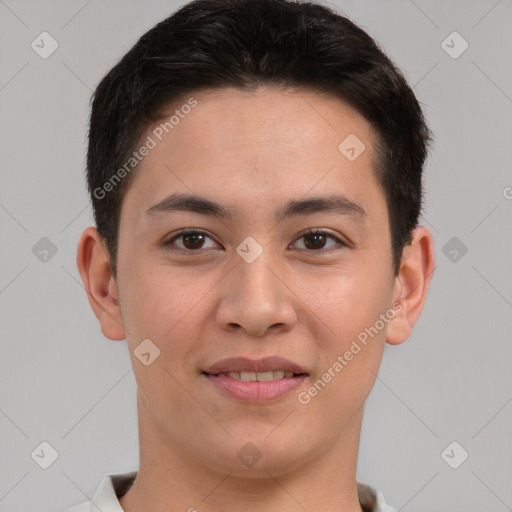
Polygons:
[[[2,512],[63,510],[137,468],[126,342],[101,334],[75,263],[93,223],[86,129],[98,81],[178,5],[0,0]],[[404,71],[436,136],[423,224],[437,267],[412,336],[386,346],[357,477],[398,510],[512,510],[512,2],[334,5]],[[43,31],[59,44],[47,59],[31,47]],[[469,43],[458,58],[442,46],[453,31]],[[59,454],[48,469],[31,457],[43,441]],[[453,441],[469,453],[458,469],[441,455]]]

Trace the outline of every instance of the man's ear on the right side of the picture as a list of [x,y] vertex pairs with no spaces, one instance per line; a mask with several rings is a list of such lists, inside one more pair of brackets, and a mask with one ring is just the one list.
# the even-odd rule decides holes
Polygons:
[[399,345],[409,338],[412,328],[427,298],[427,291],[434,272],[434,242],[430,231],[417,227],[412,233],[411,244],[404,247],[400,270],[395,278],[393,303],[400,303],[395,317],[389,322],[386,341]]

